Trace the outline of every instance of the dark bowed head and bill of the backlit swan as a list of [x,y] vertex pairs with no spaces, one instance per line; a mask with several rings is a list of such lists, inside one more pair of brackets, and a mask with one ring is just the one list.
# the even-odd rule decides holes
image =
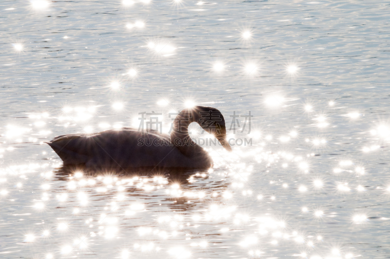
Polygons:
[[222,113],[213,107],[195,106],[193,109],[197,113],[200,127],[214,135],[226,150],[232,151],[226,137],[226,125]]

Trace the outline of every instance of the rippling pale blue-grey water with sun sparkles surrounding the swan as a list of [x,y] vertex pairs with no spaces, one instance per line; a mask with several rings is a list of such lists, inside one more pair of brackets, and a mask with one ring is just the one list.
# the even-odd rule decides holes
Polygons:
[[[1,258],[390,258],[388,1],[47,3],[0,2]],[[177,178],[43,143],[189,101],[253,145]]]

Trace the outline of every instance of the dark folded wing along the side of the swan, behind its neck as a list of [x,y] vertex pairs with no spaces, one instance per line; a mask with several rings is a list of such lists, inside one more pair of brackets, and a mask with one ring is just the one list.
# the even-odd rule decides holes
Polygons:
[[[170,163],[166,160],[182,156],[178,150],[174,150],[176,148],[167,137],[168,135],[159,134],[158,131],[142,133],[134,128],[122,128],[94,134],[63,135],[47,144],[64,164],[164,166]],[[155,144],[161,142],[165,145]]]

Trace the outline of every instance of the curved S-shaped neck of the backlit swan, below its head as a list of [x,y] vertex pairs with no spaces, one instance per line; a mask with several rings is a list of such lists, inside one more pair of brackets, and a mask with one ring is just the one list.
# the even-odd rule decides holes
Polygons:
[[176,116],[171,132],[171,142],[186,156],[194,155],[199,149],[203,150],[188,134],[188,126],[192,122],[199,123],[199,114],[194,109],[184,109]]

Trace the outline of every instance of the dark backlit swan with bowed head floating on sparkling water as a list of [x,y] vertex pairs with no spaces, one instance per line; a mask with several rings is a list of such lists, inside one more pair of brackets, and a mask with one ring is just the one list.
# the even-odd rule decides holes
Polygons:
[[171,135],[136,128],[106,130],[92,134],[68,134],[46,142],[64,165],[119,166],[123,168],[210,168],[213,159],[188,134],[198,123],[232,151],[226,138],[225,119],[212,107],[195,106],[182,110],[173,121]]

